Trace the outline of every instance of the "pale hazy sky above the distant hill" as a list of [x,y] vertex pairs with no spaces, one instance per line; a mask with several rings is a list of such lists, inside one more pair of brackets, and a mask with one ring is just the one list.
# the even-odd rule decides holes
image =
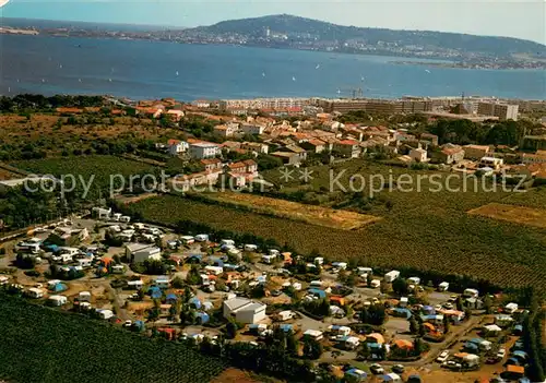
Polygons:
[[288,13],[342,25],[510,36],[546,45],[546,0],[11,0],[0,16],[192,27]]

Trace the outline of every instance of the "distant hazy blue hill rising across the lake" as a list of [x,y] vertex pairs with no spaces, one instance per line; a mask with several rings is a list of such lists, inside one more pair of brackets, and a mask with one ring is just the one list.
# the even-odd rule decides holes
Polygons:
[[348,41],[348,46],[355,47],[372,46],[381,47],[381,49],[405,47],[413,51],[449,52],[451,50],[495,57],[509,57],[514,53],[546,57],[546,46],[519,38],[430,31],[364,28],[287,14],[225,21],[211,26],[187,29],[187,33],[217,36],[239,35],[248,39],[263,39],[266,37],[268,28],[270,36],[284,34],[285,39],[339,41],[340,44]]

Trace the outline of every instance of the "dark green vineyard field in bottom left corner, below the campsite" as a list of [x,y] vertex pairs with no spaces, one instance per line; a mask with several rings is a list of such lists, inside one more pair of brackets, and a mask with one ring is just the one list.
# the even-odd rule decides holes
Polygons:
[[0,294],[0,380],[210,382],[225,364],[181,344],[149,339]]

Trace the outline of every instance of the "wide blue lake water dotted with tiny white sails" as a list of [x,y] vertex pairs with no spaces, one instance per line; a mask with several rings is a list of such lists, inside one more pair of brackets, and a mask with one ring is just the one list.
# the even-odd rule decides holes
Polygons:
[[[401,58],[143,40],[0,36],[0,94],[134,99],[498,96],[545,99],[541,70],[394,64]],[[428,71],[429,72],[428,72]],[[364,77],[364,81],[363,81]],[[339,93],[341,91],[341,93]]]

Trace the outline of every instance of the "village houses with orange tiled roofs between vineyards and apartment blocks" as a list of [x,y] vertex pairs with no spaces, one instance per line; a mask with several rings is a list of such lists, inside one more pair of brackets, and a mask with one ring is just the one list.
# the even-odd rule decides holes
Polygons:
[[[438,136],[430,133],[410,134],[407,129],[364,127],[335,121],[335,115],[317,113],[313,120],[277,121],[269,117],[247,117],[215,128],[222,144],[180,143],[169,144],[170,153],[189,151],[192,158],[217,156],[222,149],[237,153],[270,154],[285,165],[298,166],[309,155],[328,152],[334,156],[357,158],[371,149],[381,148],[404,163],[431,163],[459,166],[465,171],[484,171],[492,175],[501,169],[525,170],[539,178],[546,175],[546,152],[518,153],[515,148],[489,145],[439,145]],[[246,135],[254,135],[260,142],[242,142]],[[197,145],[197,146],[195,146]],[[192,149],[192,147],[194,147]],[[214,147],[214,148],[213,148]],[[206,153],[204,151],[207,151]],[[508,167],[505,159],[520,166]]]

